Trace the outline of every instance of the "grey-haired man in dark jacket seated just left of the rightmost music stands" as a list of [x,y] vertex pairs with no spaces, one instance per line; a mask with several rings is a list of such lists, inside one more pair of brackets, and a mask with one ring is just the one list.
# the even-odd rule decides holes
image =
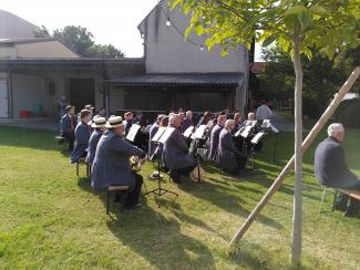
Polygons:
[[241,155],[241,153],[236,148],[232,131],[235,127],[234,120],[227,120],[225,123],[225,127],[220,132],[219,135],[219,144],[218,144],[218,165],[224,172],[238,175],[239,170],[245,167],[246,158]]

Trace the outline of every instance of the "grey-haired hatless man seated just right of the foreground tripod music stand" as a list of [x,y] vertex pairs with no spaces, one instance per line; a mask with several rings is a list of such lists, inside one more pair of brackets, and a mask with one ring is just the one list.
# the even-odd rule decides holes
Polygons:
[[196,164],[193,157],[188,154],[188,148],[178,131],[181,118],[177,114],[169,116],[169,125],[175,128],[173,134],[164,144],[165,165],[169,169],[172,179],[179,184],[181,177],[188,177]]

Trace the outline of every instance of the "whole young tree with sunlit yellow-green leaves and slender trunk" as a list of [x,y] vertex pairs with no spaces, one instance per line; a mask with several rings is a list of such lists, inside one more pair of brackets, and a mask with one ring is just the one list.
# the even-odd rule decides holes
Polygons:
[[172,9],[191,14],[186,33],[206,34],[206,45],[224,54],[255,38],[264,46],[276,42],[292,58],[295,82],[295,196],[291,261],[301,258],[302,208],[302,68],[301,54],[317,48],[332,59],[337,50],[357,46],[360,0],[168,0]]

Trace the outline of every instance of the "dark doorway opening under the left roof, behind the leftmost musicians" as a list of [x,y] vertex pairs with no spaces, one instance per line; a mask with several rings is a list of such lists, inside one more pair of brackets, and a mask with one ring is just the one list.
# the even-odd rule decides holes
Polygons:
[[70,79],[70,104],[76,107],[76,112],[85,105],[95,105],[94,79]]

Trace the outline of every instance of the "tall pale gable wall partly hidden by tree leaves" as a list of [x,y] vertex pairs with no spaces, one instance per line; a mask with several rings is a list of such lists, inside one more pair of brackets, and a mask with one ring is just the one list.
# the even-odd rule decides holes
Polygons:
[[[145,34],[146,72],[147,73],[189,73],[189,72],[244,72],[248,69],[247,49],[230,51],[227,58],[220,56],[220,48],[215,46],[209,52],[200,51],[197,45],[186,42],[175,30],[185,32],[189,18],[178,10],[171,12],[174,25],[167,27],[168,8],[165,2],[155,8],[147,19],[140,24],[140,31]],[[165,10],[165,11],[163,11]],[[189,35],[197,44],[205,43],[205,37]],[[245,55],[246,54],[246,55]]]

